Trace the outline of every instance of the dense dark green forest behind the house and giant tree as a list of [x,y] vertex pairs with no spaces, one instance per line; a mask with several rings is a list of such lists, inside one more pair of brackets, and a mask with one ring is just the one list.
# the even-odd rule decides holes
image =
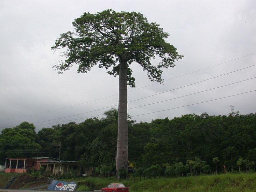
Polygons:
[[[93,166],[96,174],[115,171],[117,110],[106,117],[43,128],[22,122],[2,130],[0,158],[58,158]],[[169,120],[128,120],[129,163],[140,177],[187,176],[255,171],[256,113],[228,116],[187,114]],[[103,171],[102,171],[103,170]]]

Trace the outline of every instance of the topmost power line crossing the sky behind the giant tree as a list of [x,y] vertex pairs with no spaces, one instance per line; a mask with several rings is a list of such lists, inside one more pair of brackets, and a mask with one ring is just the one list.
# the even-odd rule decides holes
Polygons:
[[[216,66],[218,66],[218,65],[222,65],[222,64],[225,64],[225,63],[228,63],[228,62],[231,62],[231,61],[235,61],[235,60],[238,60],[238,59],[241,59],[241,58],[244,58],[244,57],[248,57],[248,56],[251,56],[251,55],[254,55],[254,54],[256,54],[256,53],[248,54],[248,55],[245,55],[245,56],[242,56],[242,57],[239,57],[239,58],[235,58],[235,59],[232,59],[232,60],[223,62],[223,63],[219,63],[219,64],[216,64],[216,65],[212,65],[212,66],[210,66],[210,67],[203,68],[203,69],[200,69],[200,70],[197,70],[197,71],[194,71],[194,72],[190,72],[190,73],[183,74],[183,75],[180,75],[180,76],[177,76],[177,77],[173,77],[173,78],[170,78],[170,79],[166,79],[165,81],[169,81],[169,80],[172,80],[172,79],[175,79],[175,78],[183,77],[183,76],[186,76],[186,75],[189,75],[189,74],[193,74],[193,73],[196,73],[196,72],[199,72],[199,71],[203,71],[203,70],[205,70],[205,69],[210,69],[210,68],[216,67]],[[152,86],[152,85],[155,85],[155,84],[157,84],[157,83],[150,84],[150,85],[146,85],[146,86],[139,87],[139,88],[136,88],[136,89],[133,89],[133,90],[129,90],[129,91],[135,91],[135,90],[142,89],[142,88],[145,88],[145,87],[148,87],[148,86]],[[128,92],[129,92],[129,91],[128,91]],[[118,94],[110,95],[110,96],[107,96],[107,97],[103,97],[103,98],[99,98],[99,99],[96,99],[96,100],[87,101],[87,102],[84,102],[84,103],[79,103],[79,104],[75,104],[75,105],[71,105],[71,106],[67,106],[67,107],[62,107],[62,108],[58,108],[58,109],[53,109],[53,110],[49,110],[49,111],[46,111],[46,112],[41,112],[41,113],[31,114],[31,115],[26,115],[26,116],[21,116],[21,117],[14,117],[14,118],[10,118],[10,119],[3,119],[3,120],[0,120],[0,121],[6,121],[6,120],[12,120],[12,119],[18,119],[18,118],[23,118],[23,117],[30,117],[30,116],[33,116],[33,115],[40,115],[40,114],[44,114],[44,113],[49,113],[49,112],[53,112],[53,111],[56,111],[56,110],[66,109],[66,108],[69,108],[69,107],[74,107],[74,106],[78,106],[78,105],[82,105],[82,104],[86,104],[86,103],[90,103],[90,102],[94,102],[94,101],[99,101],[99,100],[102,100],[102,99],[106,99],[106,98],[113,97],[113,96],[115,96],[115,95],[118,95]]]

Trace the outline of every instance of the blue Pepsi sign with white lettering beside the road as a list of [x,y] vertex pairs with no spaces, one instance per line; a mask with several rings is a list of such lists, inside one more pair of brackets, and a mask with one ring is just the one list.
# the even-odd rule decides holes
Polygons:
[[48,186],[49,191],[75,191],[77,184],[75,182],[53,180]]

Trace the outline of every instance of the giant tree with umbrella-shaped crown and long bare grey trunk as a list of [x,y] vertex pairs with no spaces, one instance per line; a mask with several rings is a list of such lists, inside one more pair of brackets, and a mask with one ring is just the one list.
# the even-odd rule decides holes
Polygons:
[[[111,9],[97,14],[84,13],[72,23],[74,31],[61,34],[52,49],[67,48],[65,61],[55,66],[59,73],[74,64],[86,73],[94,65],[106,68],[108,74],[119,75],[118,136],[116,168],[127,168],[127,84],[135,87],[130,65],[139,63],[152,81],[163,83],[161,68],[174,67],[181,59],[176,48],[165,42],[169,34],[156,23],[149,23],[141,13],[115,12]],[[161,62],[152,65],[151,58]],[[118,174],[117,174],[117,177]]]

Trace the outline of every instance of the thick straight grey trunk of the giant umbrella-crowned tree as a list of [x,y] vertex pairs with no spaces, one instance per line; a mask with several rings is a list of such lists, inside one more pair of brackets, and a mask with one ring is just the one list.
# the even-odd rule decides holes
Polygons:
[[117,179],[119,170],[128,166],[128,125],[127,125],[127,60],[123,54],[119,57],[119,103],[118,103],[118,133],[116,150]]

